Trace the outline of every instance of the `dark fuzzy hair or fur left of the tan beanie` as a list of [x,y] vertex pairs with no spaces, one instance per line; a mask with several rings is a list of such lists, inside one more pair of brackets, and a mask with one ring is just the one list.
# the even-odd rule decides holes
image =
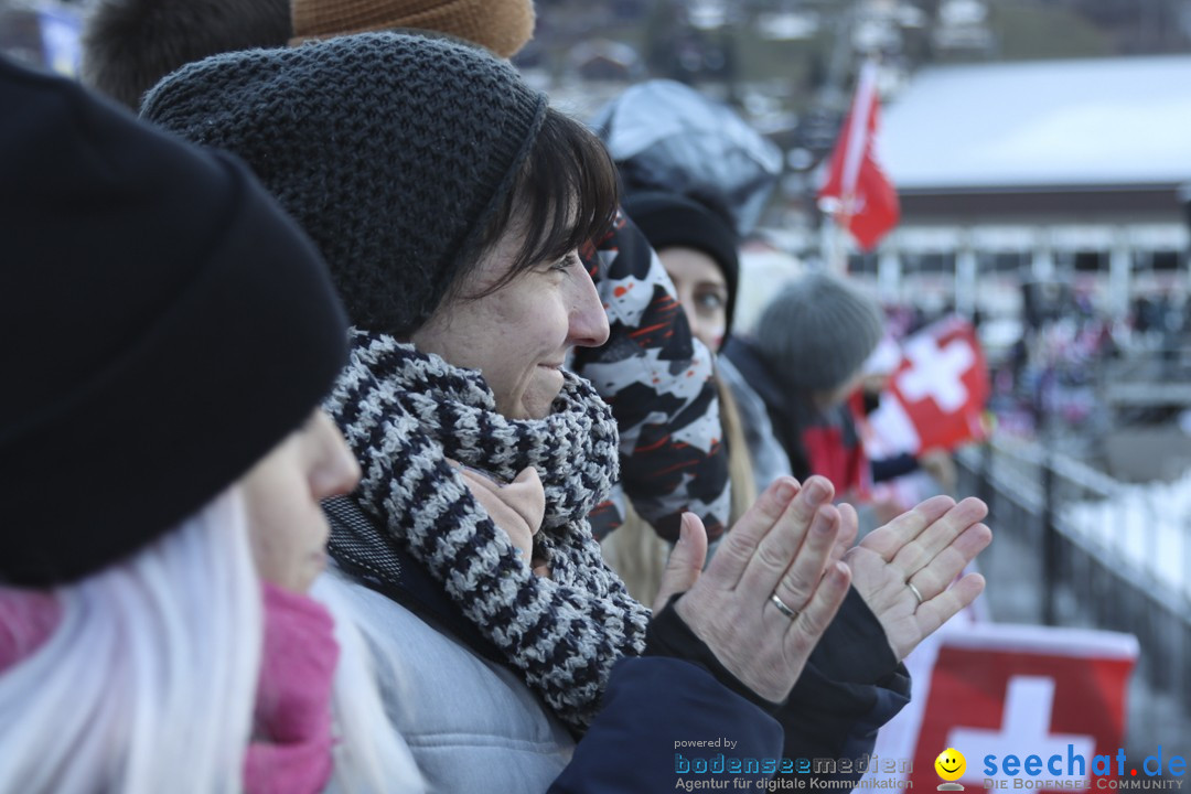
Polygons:
[[187,63],[285,46],[292,35],[289,0],[99,0],[83,25],[81,77],[137,111]]

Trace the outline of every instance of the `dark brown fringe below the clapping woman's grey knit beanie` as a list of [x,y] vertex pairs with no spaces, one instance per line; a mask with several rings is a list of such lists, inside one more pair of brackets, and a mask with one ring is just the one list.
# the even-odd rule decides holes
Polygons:
[[480,256],[518,219],[525,224],[525,239],[509,273],[484,293],[468,298],[491,295],[536,264],[598,242],[612,227],[618,202],[616,165],[604,143],[579,121],[547,108],[542,129],[504,204],[484,233],[461,254],[466,264],[455,282],[461,283]]

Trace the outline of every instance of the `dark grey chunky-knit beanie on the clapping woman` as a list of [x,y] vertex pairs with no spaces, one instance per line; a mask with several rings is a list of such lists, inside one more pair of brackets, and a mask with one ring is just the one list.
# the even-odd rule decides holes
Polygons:
[[360,33],[188,64],[141,112],[245,160],[326,257],[353,325],[407,338],[474,256],[545,110],[476,48]]

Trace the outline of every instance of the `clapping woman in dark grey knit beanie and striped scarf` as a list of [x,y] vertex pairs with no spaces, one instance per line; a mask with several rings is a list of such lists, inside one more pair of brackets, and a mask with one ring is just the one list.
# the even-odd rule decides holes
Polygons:
[[[606,152],[507,64],[416,36],[208,58],[162,81],[143,112],[256,168],[345,300],[351,358],[328,405],[364,476],[328,505],[331,549],[355,580],[342,586],[354,613],[382,638],[382,680],[404,674],[403,692],[422,699],[389,717],[439,788],[543,790],[569,754],[563,725],[591,725],[618,659],[647,650],[649,614],[586,524],[613,479],[615,424],[559,367],[607,336],[575,256],[615,213]],[[752,523],[772,526],[793,490],[775,483]],[[983,587],[947,587],[989,540],[977,500],[924,502],[840,567],[829,546],[854,515],[831,496],[827,481],[805,483],[790,509],[807,542],[774,537],[797,538],[807,558],[785,575],[781,562],[775,590],[746,588],[747,604],[724,582],[757,532],[729,538],[698,579],[704,536],[685,519],[676,564],[698,581],[649,623],[648,648],[699,658],[768,701],[787,756],[871,748],[905,700],[898,659]],[[911,543],[923,554],[897,554]],[[872,609],[831,623],[846,639],[824,670],[806,655],[852,567],[863,573],[853,598]],[[779,651],[755,658],[752,643],[774,631]],[[466,707],[443,707],[447,693]]]

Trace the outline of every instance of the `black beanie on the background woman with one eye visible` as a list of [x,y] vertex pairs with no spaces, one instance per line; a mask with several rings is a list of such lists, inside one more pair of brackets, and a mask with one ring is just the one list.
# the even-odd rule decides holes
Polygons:
[[724,338],[732,327],[736,286],[740,282],[740,238],[728,220],[707,206],[676,193],[635,193],[624,200],[624,212],[644,233],[655,251],[672,246],[703,251],[719,265],[728,282]]

